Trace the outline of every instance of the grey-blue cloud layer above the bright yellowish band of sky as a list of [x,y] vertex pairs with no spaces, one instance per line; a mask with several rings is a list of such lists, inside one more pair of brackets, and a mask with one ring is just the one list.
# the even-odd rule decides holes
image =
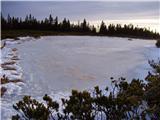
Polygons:
[[126,17],[155,17],[157,2],[2,2],[2,13],[24,17],[32,13],[42,19],[49,14],[69,19],[113,19]]

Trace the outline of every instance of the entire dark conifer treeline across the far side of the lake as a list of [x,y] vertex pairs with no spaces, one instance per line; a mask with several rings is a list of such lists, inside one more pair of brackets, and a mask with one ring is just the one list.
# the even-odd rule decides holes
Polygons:
[[68,19],[64,18],[62,21],[58,17],[53,18],[49,15],[44,20],[37,20],[34,16],[27,15],[25,19],[18,17],[11,17],[8,15],[4,18],[1,14],[1,28],[3,30],[40,30],[40,31],[53,31],[65,33],[81,33],[85,35],[101,35],[101,36],[119,36],[119,37],[137,37],[147,39],[159,39],[159,33],[150,31],[146,28],[135,27],[132,24],[120,25],[109,24],[108,26],[102,21],[99,28],[90,25],[86,19],[78,24],[71,23]]

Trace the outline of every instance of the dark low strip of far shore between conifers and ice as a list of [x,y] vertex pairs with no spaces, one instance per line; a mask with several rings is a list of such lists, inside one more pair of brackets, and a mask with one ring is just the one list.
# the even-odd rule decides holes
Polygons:
[[40,38],[41,36],[96,36],[96,37],[121,37],[132,39],[143,39],[143,40],[159,40],[160,38],[144,37],[144,36],[130,36],[130,35],[103,35],[103,34],[92,34],[92,33],[80,33],[80,32],[54,32],[54,31],[39,31],[39,30],[3,30],[1,31],[1,41],[4,39],[19,40],[18,37],[34,37]]

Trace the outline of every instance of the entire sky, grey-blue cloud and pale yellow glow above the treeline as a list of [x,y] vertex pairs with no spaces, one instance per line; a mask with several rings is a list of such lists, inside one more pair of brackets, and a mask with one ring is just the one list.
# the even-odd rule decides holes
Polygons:
[[96,26],[102,20],[106,24],[132,23],[160,33],[159,1],[2,1],[1,10],[4,16],[10,14],[24,18],[31,13],[38,19],[44,19],[52,14],[59,20],[66,17],[74,23],[86,18]]

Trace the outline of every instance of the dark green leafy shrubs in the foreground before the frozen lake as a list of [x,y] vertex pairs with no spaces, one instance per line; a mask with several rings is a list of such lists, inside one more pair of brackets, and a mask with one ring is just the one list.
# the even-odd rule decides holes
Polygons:
[[111,78],[112,89],[72,91],[62,104],[45,95],[38,102],[30,96],[13,105],[17,115],[12,120],[160,120],[160,61],[149,61],[154,72],[146,81]]

